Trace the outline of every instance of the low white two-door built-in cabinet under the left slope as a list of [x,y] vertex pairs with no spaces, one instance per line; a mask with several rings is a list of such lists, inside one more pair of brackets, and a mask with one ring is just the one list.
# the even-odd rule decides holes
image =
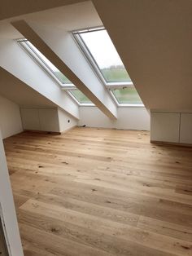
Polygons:
[[24,130],[59,132],[57,108],[20,108]]

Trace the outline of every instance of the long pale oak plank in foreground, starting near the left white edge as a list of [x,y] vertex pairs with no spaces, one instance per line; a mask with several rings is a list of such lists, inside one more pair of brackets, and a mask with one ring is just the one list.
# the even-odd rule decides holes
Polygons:
[[[76,210],[64,209],[58,205],[50,205],[34,200],[28,200],[24,205],[20,206],[21,210],[28,210],[33,214],[44,214],[50,218],[56,218],[68,223],[76,223],[81,227],[86,227],[97,232],[106,234],[107,236],[116,236],[125,241],[132,241],[141,245],[146,245],[152,249],[161,249],[164,254],[190,255],[192,243],[188,241],[180,241],[175,238],[163,235],[157,235],[154,232],[144,232],[140,228],[129,226],[128,224],[111,222],[110,220],[95,217],[90,214],[77,212]],[[166,247],[162,248],[162,244]],[[188,248],[188,249],[185,249]]]

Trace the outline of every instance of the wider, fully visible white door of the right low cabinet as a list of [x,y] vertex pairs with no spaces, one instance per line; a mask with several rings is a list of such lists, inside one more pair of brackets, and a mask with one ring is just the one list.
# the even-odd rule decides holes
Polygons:
[[180,113],[151,112],[151,141],[179,143]]

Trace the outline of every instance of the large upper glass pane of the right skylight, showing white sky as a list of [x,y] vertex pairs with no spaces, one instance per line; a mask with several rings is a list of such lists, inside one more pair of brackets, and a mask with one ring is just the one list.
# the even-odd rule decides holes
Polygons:
[[107,30],[79,33],[106,82],[131,82]]

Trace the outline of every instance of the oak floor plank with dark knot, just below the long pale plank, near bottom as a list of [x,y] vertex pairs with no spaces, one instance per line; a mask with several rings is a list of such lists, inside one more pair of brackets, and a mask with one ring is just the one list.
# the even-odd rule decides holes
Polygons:
[[76,223],[64,222],[63,220],[50,218],[41,214],[31,214],[29,211],[20,211],[19,220],[20,223],[27,223],[28,227],[37,227],[45,232],[54,233],[57,236],[76,241],[83,245],[102,249],[112,255],[172,255],[157,249],[147,248],[146,246],[138,246],[137,243],[124,241],[116,236],[106,236],[102,232],[76,225]]

